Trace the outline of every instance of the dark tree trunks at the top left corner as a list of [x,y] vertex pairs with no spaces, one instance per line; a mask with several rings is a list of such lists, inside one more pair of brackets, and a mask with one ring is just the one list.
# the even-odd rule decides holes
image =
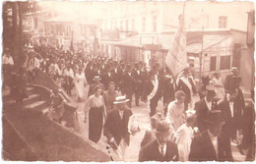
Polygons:
[[25,62],[23,20],[25,14],[35,13],[39,7],[35,1],[3,3],[3,49],[9,48],[15,67]]

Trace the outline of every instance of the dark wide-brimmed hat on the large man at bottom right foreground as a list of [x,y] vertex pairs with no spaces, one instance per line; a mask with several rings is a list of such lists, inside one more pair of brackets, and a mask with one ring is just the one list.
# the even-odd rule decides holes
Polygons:
[[224,120],[221,117],[222,112],[220,110],[213,110],[208,113],[207,119],[205,120],[209,126],[213,125],[224,125]]

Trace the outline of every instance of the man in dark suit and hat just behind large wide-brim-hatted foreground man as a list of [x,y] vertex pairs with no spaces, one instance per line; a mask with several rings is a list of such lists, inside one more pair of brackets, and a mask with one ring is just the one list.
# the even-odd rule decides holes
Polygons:
[[199,100],[195,103],[195,111],[197,116],[196,126],[200,132],[203,132],[207,129],[206,127],[206,118],[209,111],[216,109],[216,104],[213,101],[216,96],[215,88],[212,85],[206,86],[206,97]]

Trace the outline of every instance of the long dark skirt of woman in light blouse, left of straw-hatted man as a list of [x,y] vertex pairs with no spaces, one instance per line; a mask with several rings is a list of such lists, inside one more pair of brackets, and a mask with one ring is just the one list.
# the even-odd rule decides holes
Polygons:
[[97,142],[103,127],[103,107],[91,108],[89,111],[89,139]]

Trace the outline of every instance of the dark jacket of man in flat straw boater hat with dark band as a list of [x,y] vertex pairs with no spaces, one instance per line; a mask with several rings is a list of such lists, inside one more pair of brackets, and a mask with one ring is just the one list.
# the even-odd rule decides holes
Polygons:
[[128,133],[128,122],[132,114],[130,109],[125,109],[123,119],[121,120],[118,110],[109,112],[103,127],[103,135],[107,137],[108,140],[114,137],[117,145],[119,145],[121,139],[124,138],[129,145],[130,134]]

